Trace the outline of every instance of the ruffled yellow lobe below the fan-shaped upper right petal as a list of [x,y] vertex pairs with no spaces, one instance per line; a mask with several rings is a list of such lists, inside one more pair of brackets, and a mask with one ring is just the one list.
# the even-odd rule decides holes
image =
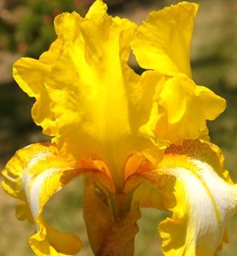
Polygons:
[[206,121],[216,119],[226,108],[226,100],[182,74],[166,80],[158,103],[163,115],[156,124],[156,135],[171,144],[207,137]]

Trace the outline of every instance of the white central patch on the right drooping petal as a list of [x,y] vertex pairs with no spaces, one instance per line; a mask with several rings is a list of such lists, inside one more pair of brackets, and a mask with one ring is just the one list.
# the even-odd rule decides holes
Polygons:
[[[237,205],[236,187],[226,183],[206,163],[198,160],[193,163],[201,171],[178,168],[169,172],[173,172],[182,183],[186,198],[187,236],[184,252],[209,256],[222,246],[229,217]],[[163,245],[166,245],[166,241]],[[175,252],[172,255],[176,255]]]

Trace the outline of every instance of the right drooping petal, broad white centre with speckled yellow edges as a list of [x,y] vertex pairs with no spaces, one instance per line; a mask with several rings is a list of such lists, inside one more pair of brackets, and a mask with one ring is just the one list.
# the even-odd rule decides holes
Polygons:
[[137,188],[141,206],[172,212],[159,226],[166,256],[214,256],[228,242],[229,218],[237,211],[237,185],[223,169],[218,147],[197,140],[172,145],[157,169],[134,174],[135,180],[138,177],[152,192],[146,201],[149,195]]

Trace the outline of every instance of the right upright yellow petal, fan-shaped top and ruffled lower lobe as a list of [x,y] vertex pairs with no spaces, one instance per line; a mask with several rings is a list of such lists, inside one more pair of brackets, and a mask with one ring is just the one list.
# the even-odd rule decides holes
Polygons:
[[184,139],[208,139],[206,120],[215,119],[226,107],[225,100],[190,79],[190,45],[197,11],[198,5],[189,2],[153,11],[131,42],[141,67],[169,75],[164,76],[163,89],[156,96],[154,119],[157,143],[163,146],[165,141],[180,144]]

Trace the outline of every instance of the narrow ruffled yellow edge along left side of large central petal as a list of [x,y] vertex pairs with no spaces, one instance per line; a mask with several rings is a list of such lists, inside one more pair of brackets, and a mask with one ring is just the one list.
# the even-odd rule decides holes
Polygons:
[[57,131],[55,114],[50,109],[49,94],[46,90],[45,79],[52,65],[62,55],[65,43],[78,38],[78,27],[83,18],[73,12],[62,14],[55,18],[57,40],[52,43],[48,52],[44,52],[39,61],[33,58],[20,58],[13,66],[13,76],[17,84],[29,96],[36,98],[32,109],[32,117],[37,125],[43,127],[43,133],[54,136]]

